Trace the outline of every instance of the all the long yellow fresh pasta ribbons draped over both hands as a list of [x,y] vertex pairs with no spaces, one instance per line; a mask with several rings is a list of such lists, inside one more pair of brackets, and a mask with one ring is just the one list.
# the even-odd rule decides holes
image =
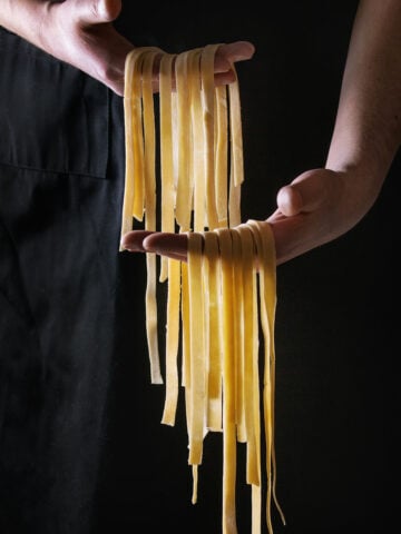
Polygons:
[[[146,230],[187,234],[187,263],[162,258],[157,275],[156,256],[147,255],[145,306],[153,384],[164,383],[157,278],[168,286],[162,423],[174,426],[183,387],[193,503],[197,501],[205,436],[208,432],[222,433],[223,534],[237,532],[236,447],[237,442],[246,444],[252,534],[262,532],[263,510],[272,534],[273,502],[285,523],[275,494],[274,241],[267,222],[241,224],[244,161],[239,87],[237,79],[215,87],[214,61],[219,46],[207,44],[178,55],[148,47],[127,56],[121,235],[136,221]],[[260,333],[264,347],[262,380]],[[262,457],[267,481],[264,505]]]

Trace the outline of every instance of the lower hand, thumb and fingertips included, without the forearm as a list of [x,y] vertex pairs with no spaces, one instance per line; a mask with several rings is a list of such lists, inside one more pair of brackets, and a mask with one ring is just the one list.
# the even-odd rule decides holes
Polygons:
[[[368,212],[379,189],[369,189],[355,170],[303,172],[277,194],[277,209],[270,222],[277,265],[346,233]],[[186,234],[133,230],[121,245],[130,251],[156,253],[186,261]]]

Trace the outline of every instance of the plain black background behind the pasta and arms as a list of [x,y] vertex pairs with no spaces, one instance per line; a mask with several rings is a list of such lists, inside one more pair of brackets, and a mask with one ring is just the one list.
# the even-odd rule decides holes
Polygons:
[[[243,219],[266,218],[277,189],[321,167],[330,144],[356,1],[124,2],[117,21],[135,44],[179,52],[250,40],[237,65],[243,108]],[[397,521],[399,246],[395,158],[371,211],[351,231],[277,269],[276,534],[387,532]],[[175,427],[160,424],[164,387],[149,383],[145,266],[126,255],[120,342],[99,488],[97,533],[221,532],[222,447],[205,439],[198,503],[183,397]],[[130,315],[131,314],[131,315]],[[123,337],[121,337],[123,339]],[[243,452],[239,447],[239,456]],[[238,474],[238,530],[250,488]]]

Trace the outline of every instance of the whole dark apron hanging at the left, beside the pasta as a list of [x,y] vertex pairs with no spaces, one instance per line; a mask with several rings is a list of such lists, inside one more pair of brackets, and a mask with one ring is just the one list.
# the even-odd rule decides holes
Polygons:
[[120,98],[0,29],[2,534],[90,532],[123,134]]

